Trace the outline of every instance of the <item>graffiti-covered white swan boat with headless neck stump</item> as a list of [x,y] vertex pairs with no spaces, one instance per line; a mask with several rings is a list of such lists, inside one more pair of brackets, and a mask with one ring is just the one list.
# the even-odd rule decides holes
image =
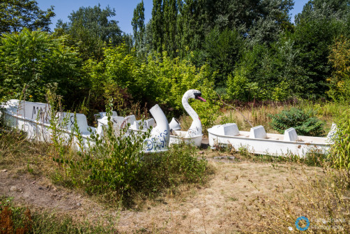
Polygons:
[[[52,129],[52,122],[54,121],[53,119],[57,118],[52,118],[50,116],[50,105],[11,99],[6,103],[2,103],[0,106],[3,108],[0,112],[0,116],[3,115],[6,125],[26,132],[26,138],[28,140],[52,142],[54,131]],[[157,126],[152,129],[151,136],[144,140],[144,152],[167,151],[170,133],[167,117],[159,105],[154,105],[149,112],[154,119],[149,120],[146,124],[156,123]],[[88,149],[94,144],[91,134],[98,133],[100,136],[103,134],[104,129],[102,128],[102,125],[105,123],[102,121],[98,122],[98,127],[96,129],[93,126],[88,126],[84,114],[58,112],[57,116],[59,119],[59,123],[57,124],[59,127],[59,138],[63,139],[63,142],[68,142],[68,139],[73,136],[75,149],[79,150],[81,147]],[[114,119],[114,126],[116,126],[118,123],[116,121],[121,119],[115,118],[117,117],[116,112],[113,112],[112,116],[112,119]],[[103,118],[107,119],[107,116],[102,117],[102,119]],[[128,117],[128,119],[123,117],[123,122],[125,121],[132,122],[132,117]],[[134,122],[133,125],[135,125],[136,128],[140,123]],[[82,136],[82,146],[74,136],[75,128],[78,129],[77,131],[79,131]]]

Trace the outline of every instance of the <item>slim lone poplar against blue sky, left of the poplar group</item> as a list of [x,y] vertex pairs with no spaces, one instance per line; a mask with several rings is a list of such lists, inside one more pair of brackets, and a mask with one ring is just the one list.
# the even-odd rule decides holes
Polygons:
[[144,47],[144,34],[146,28],[144,26],[144,1],[137,4],[132,17],[132,29],[134,31],[135,47],[137,50]]

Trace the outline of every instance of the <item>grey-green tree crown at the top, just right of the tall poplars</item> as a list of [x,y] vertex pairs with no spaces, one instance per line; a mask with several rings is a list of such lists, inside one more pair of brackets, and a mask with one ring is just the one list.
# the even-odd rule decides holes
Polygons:
[[220,29],[236,28],[254,43],[272,43],[280,32],[291,30],[289,10],[293,6],[292,0],[219,0],[209,15],[215,15],[213,22]]

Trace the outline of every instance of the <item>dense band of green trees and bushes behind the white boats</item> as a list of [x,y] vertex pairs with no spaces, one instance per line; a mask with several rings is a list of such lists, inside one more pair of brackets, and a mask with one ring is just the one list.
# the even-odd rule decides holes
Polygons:
[[[36,11],[26,9],[36,6],[35,1],[21,4],[10,5]],[[110,20],[115,11],[109,7],[79,8],[54,33],[45,32],[52,9],[29,15],[34,21],[45,19],[43,31],[21,21],[16,21],[16,30],[10,29],[15,18],[8,19],[1,22],[9,30],[1,34],[0,99],[18,98],[26,84],[26,96],[43,101],[43,84],[56,82],[64,107],[82,111],[84,105],[88,116],[101,111],[112,94],[119,99],[114,103],[118,111],[120,103],[133,101],[142,106],[160,103],[181,115],[183,93],[199,89],[211,101],[195,107],[204,115],[204,125],[206,112],[201,110],[217,106],[213,90],[228,102],[347,100],[348,1],[311,0],[295,24],[289,18],[293,5],[154,0],[152,20],[146,24],[141,2],[132,21],[135,45]],[[3,9],[5,15],[14,14]]]

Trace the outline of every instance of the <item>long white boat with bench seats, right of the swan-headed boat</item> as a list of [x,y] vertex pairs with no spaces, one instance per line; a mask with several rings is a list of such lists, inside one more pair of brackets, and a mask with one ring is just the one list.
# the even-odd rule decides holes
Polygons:
[[230,145],[236,151],[248,149],[248,152],[253,154],[305,157],[310,153],[327,154],[335,132],[335,124],[332,124],[326,138],[320,138],[298,136],[294,128],[287,129],[284,134],[266,133],[261,125],[253,127],[250,131],[239,131],[236,124],[230,123],[208,129],[208,138],[211,147]]

